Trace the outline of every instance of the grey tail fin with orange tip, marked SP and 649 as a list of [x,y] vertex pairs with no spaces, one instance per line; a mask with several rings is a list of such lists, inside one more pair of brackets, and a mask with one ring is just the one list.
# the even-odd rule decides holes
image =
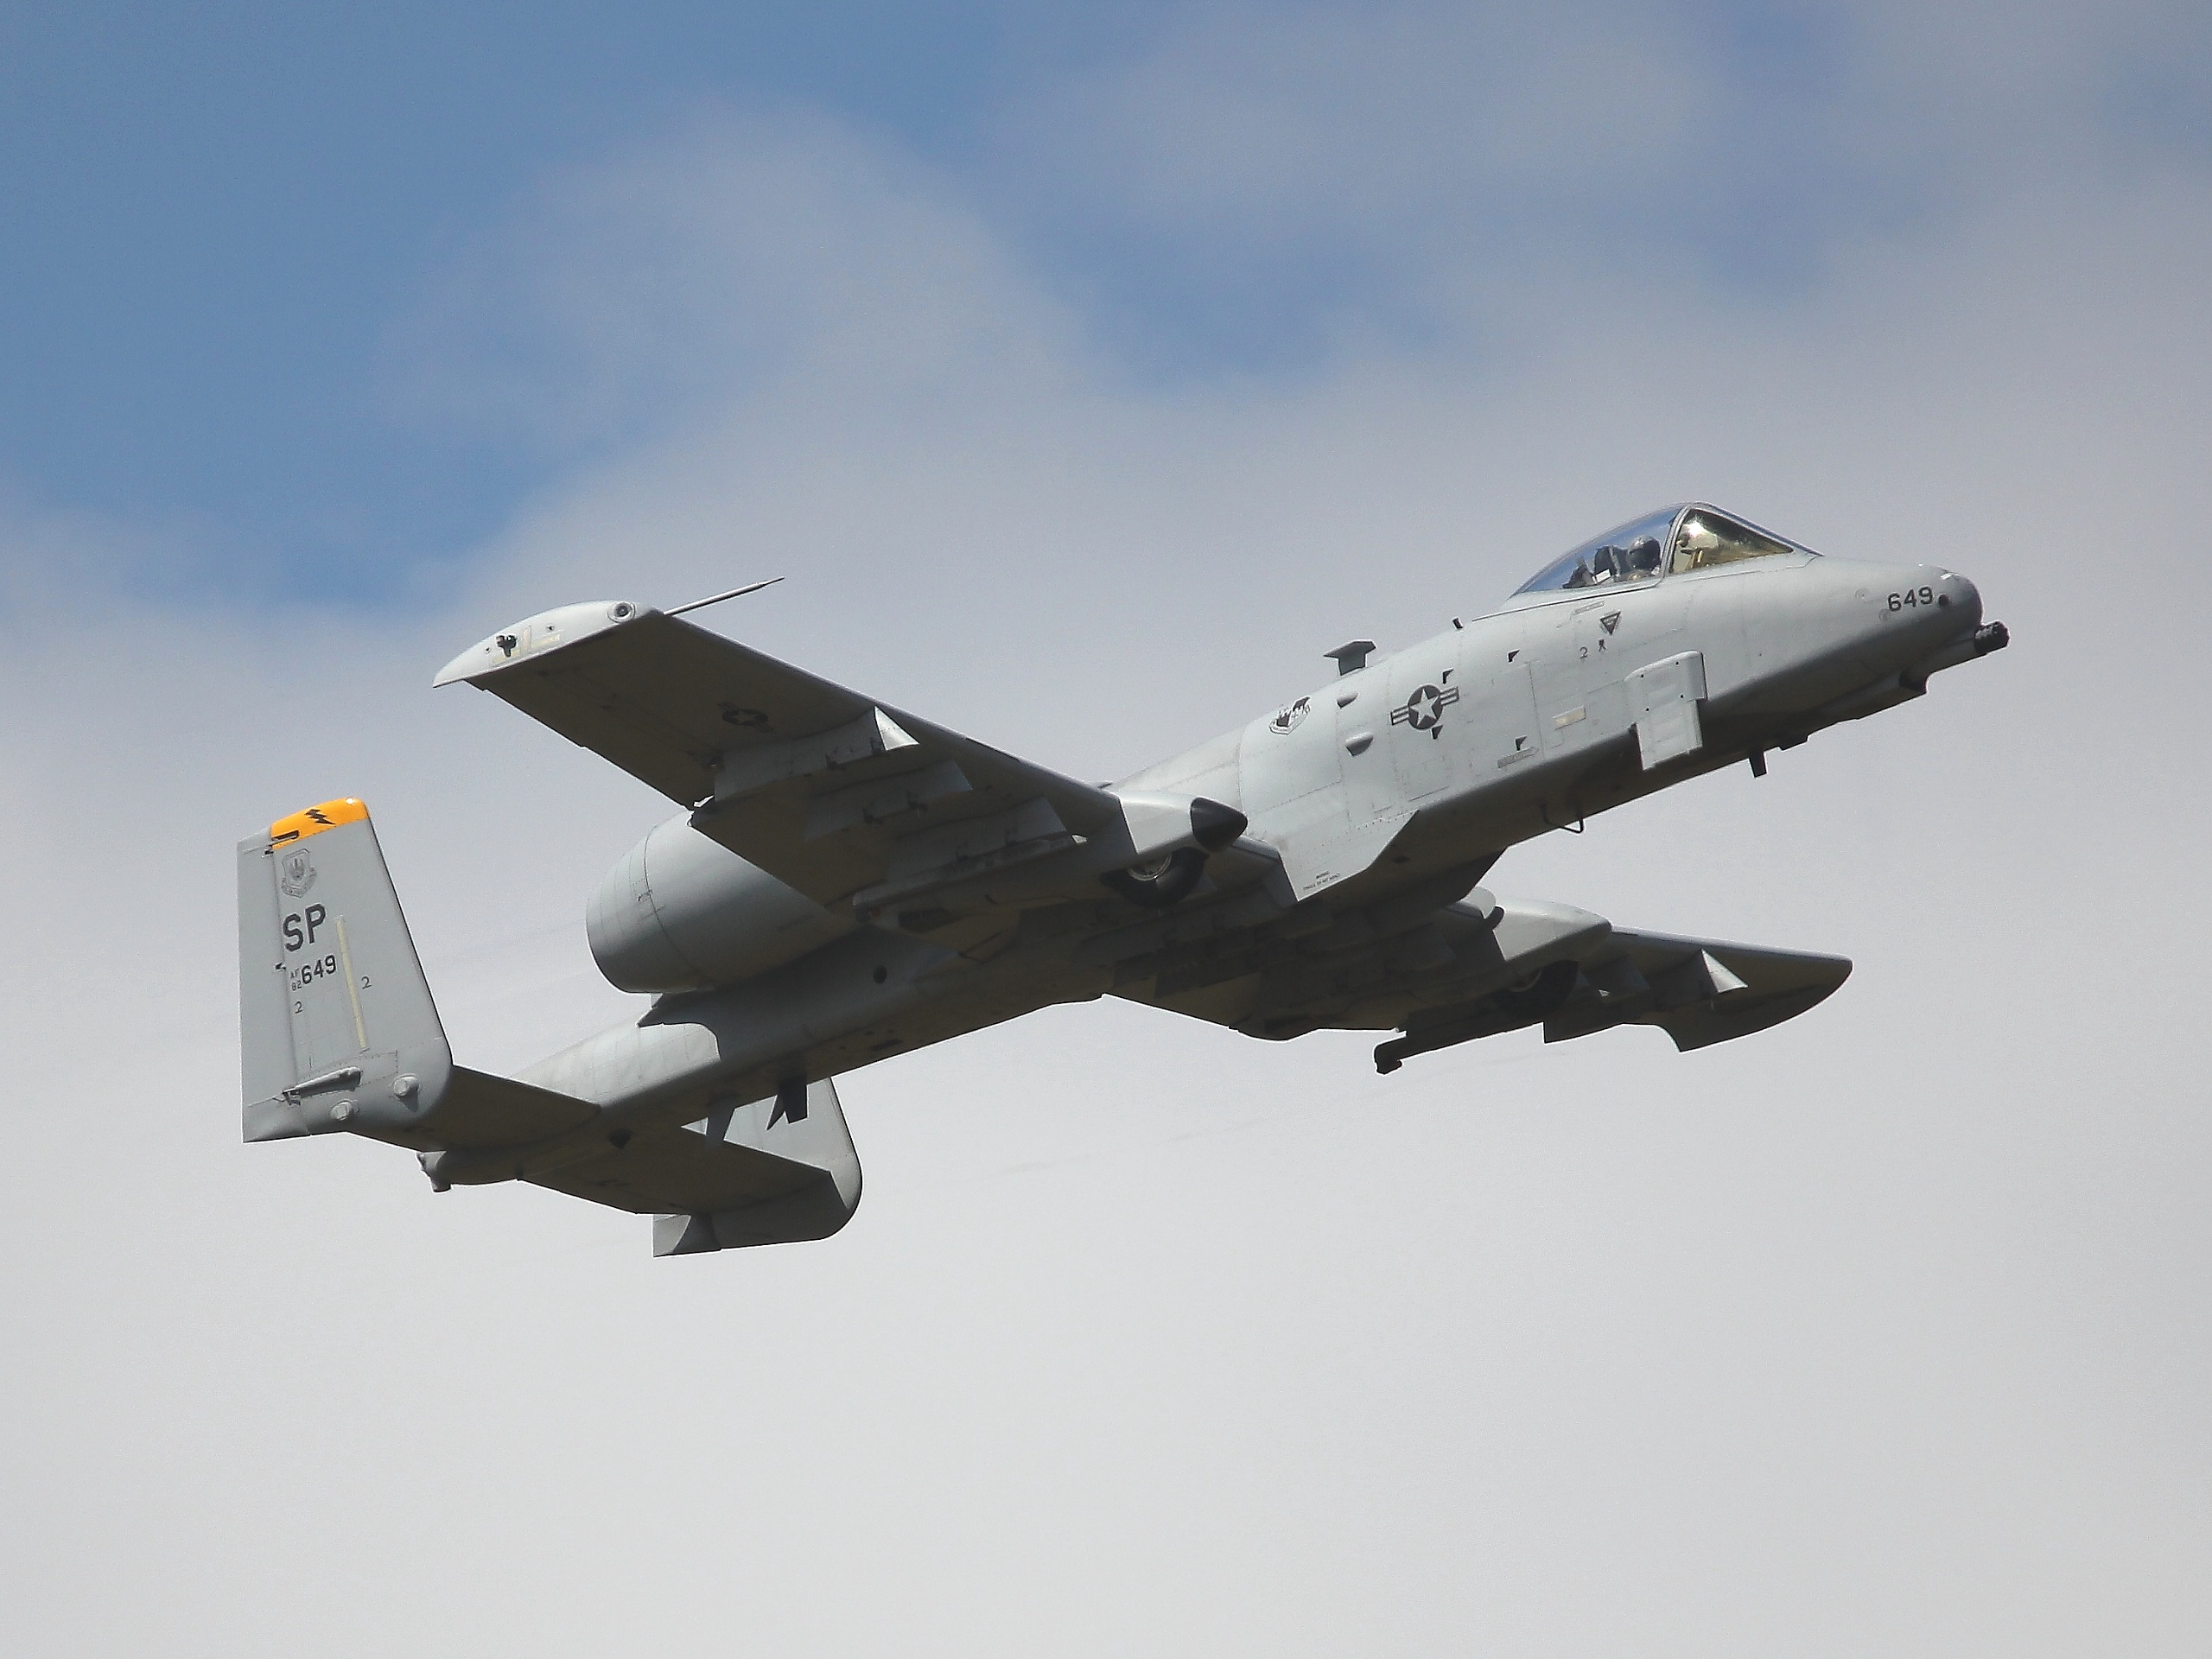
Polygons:
[[239,843],[246,1139],[403,1130],[453,1051],[361,801]]

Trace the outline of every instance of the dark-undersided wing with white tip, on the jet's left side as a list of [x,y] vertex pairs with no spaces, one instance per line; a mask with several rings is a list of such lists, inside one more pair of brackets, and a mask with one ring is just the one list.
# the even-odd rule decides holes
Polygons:
[[816,902],[896,900],[1121,821],[1106,790],[622,599],[546,611],[460,653],[467,681],[604,754]]

